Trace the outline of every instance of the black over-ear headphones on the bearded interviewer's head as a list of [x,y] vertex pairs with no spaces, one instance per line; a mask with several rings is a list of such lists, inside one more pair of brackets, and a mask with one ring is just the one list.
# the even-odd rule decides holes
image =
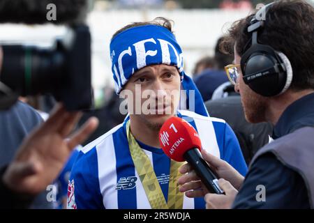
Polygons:
[[253,91],[266,97],[285,92],[292,82],[292,66],[287,56],[276,52],[269,45],[258,43],[258,31],[264,27],[264,20],[259,17],[265,15],[266,20],[267,11],[273,4],[269,3],[258,10],[251,20],[248,33],[252,33],[252,45],[241,56],[244,82]]

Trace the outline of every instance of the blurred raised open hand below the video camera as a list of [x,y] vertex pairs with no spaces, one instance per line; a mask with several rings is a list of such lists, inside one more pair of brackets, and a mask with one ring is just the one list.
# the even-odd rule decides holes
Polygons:
[[81,115],[57,105],[50,118],[24,139],[3,175],[3,183],[23,194],[35,195],[45,190],[57,178],[73,148],[98,126],[97,118],[89,118],[73,137],[66,139]]

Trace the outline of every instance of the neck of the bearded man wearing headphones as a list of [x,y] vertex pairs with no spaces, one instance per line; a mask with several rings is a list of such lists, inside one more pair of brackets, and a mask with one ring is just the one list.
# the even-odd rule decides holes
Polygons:
[[278,95],[274,98],[269,98],[269,111],[266,114],[266,120],[276,125],[279,118],[281,117],[283,112],[285,112],[285,109],[287,109],[289,105],[310,93],[314,93],[314,90],[312,89],[304,91],[288,90],[282,95]]

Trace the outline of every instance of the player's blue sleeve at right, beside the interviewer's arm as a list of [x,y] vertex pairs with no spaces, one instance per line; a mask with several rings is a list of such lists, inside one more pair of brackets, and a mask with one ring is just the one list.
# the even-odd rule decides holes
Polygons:
[[223,141],[223,160],[228,162],[234,169],[242,175],[245,176],[248,171],[246,166],[246,161],[242,154],[239,141],[234,134],[230,125],[225,123],[225,139]]

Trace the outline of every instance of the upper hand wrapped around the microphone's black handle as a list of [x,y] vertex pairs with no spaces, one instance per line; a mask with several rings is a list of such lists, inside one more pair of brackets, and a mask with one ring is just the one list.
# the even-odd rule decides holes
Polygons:
[[[244,177],[236,169],[224,160],[207,153],[204,149],[202,150],[202,157],[209,163],[209,166],[217,174],[218,178],[228,180],[233,187],[239,190]],[[209,193],[190,164],[182,165],[179,172],[184,174],[178,179],[178,183],[181,185],[179,190],[180,192],[186,192],[186,197],[204,197],[205,194]]]

